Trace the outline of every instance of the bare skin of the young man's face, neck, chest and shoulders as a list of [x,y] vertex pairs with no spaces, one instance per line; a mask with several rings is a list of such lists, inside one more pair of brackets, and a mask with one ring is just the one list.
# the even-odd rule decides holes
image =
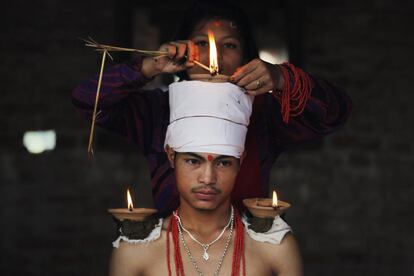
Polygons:
[[[243,266],[244,275],[302,275],[301,257],[293,235],[287,234],[280,244],[271,244],[252,239],[243,228],[244,250],[235,252],[239,237],[235,233],[234,220],[232,229],[231,225],[227,227],[221,238],[209,247],[209,260],[205,261],[202,258],[204,249],[183,229],[203,244],[214,241],[221,234],[231,216],[230,195],[242,158],[210,153],[175,153],[169,149],[168,159],[175,168],[180,194],[177,216],[182,224],[180,226],[178,223],[178,227],[182,229],[178,233],[178,250],[185,275],[233,275],[237,255],[245,260],[245,264],[242,261],[238,263],[241,266],[240,275],[243,275]],[[158,240],[138,244],[123,242],[118,249],[114,249],[110,275],[169,275],[167,230],[170,224],[177,226],[177,222],[171,223],[171,220],[177,218],[173,215],[164,221]],[[176,250],[171,240],[174,239],[169,238],[171,249],[168,258],[172,260],[170,275],[176,275],[176,262],[173,261]]]

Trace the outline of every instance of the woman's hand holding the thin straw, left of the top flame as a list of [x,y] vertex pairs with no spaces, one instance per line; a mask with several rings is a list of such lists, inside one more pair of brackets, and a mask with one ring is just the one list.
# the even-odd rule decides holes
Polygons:
[[193,60],[198,56],[198,49],[190,40],[172,41],[161,45],[159,51],[165,56],[146,57],[142,64],[142,73],[147,78],[158,74],[174,74],[194,66]]

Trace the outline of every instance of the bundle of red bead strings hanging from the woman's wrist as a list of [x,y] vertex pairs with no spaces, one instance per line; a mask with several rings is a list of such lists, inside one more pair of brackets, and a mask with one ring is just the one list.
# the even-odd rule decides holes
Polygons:
[[[289,123],[290,117],[299,116],[305,109],[313,88],[313,82],[308,74],[293,64],[285,62],[280,68],[285,80],[280,100],[282,119],[283,122]],[[293,87],[291,87],[291,74],[293,75]]]

